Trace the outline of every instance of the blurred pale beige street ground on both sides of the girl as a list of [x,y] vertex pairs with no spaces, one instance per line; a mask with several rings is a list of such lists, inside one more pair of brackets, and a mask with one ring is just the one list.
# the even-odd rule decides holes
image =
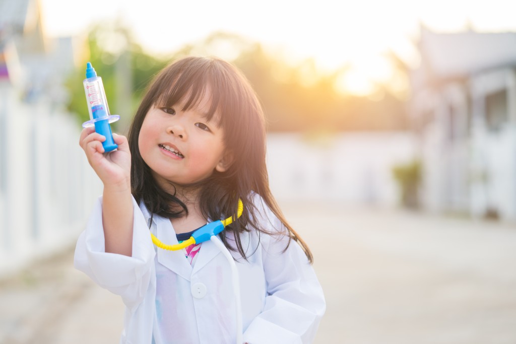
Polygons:
[[[328,308],[315,344],[513,344],[516,225],[282,202]],[[0,343],[117,343],[122,303],[73,248],[0,281]]]

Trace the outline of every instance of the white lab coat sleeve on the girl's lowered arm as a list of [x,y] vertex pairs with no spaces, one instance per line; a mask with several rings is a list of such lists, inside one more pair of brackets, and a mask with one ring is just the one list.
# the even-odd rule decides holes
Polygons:
[[[267,211],[267,210],[266,210]],[[272,228],[281,228],[270,210]],[[288,237],[264,238],[263,266],[267,297],[262,313],[244,332],[249,344],[308,344],[314,340],[326,310],[322,288],[312,265],[299,244]]]

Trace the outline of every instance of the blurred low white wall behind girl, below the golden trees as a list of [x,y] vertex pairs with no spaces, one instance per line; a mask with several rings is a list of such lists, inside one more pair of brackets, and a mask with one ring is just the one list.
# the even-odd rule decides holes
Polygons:
[[415,156],[407,133],[269,134],[267,168],[278,200],[336,200],[396,206],[392,167]]

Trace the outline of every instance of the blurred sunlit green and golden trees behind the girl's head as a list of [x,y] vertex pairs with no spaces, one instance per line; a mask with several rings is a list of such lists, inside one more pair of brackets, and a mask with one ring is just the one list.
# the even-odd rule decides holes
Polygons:
[[[379,86],[383,96],[376,100],[343,94],[335,85],[337,78],[347,72],[345,65],[332,74],[320,74],[311,59],[292,65],[267,51],[262,44],[238,35],[215,32],[164,58],[144,53],[141,46],[134,43],[130,32],[116,25],[93,28],[87,44],[89,60],[104,81],[111,113],[125,116],[126,123],[139,105],[143,91],[160,69],[182,56],[201,55],[219,56],[244,72],[260,97],[270,131],[336,132],[407,127],[404,102],[387,85]],[[72,99],[69,109],[86,121],[83,78],[84,67],[70,78]],[[125,93],[120,92],[121,87],[127,85],[131,87]]]

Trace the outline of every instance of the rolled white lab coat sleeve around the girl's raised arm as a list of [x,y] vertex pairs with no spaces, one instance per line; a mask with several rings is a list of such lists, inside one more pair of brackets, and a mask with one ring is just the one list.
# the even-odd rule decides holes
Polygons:
[[102,198],[94,205],[85,231],[75,248],[75,268],[101,287],[122,297],[128,308],[145,297],[154,269],[155,251],[143,214],[133,199],[133,256],[106,253],[102,225]]

